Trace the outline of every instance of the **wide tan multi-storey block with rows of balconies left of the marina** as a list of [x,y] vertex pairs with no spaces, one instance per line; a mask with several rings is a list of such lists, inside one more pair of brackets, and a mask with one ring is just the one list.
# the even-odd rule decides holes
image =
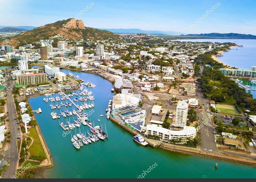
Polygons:
[[47,82],[47,75],[45,73],[23,74],[17,76],[19,85],[37,85]]

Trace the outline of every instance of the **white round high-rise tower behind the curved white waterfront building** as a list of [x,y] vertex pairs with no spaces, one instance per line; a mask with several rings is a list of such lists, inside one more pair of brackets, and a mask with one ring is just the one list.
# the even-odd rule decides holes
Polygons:
[[188,103],[185,100],[178,101],[176,107],[176,125],[184,127],[187,124],[188,117]]

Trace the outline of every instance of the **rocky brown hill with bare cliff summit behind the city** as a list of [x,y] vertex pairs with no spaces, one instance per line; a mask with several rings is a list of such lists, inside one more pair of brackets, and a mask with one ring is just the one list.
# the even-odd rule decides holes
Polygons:
[[67,20],[56,21],[55,23],[46,24],[33,30],[22,32],[12,37],[14,41],[19,41],[19,45],[26,43],[35,43],[39,39],[50,39],[54,35],[61,35],[66,39],[79,40],[103,40],[112,38],[118,39],[119,35],[96,28],[84,27],[82,20],[70,18]]

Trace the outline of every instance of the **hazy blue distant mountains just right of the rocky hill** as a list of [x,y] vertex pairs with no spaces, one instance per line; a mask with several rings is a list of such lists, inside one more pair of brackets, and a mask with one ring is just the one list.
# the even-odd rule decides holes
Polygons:
[[136,34],[136,33],[146,33],[146,34],[173,34],[173,35],[180,35],[182,32],[173,32],[173,31],[158,31],[158,30],[142,30],[139,28],[97,28],[99,30],[107,30],[113,33],[118,33],[118,34]]

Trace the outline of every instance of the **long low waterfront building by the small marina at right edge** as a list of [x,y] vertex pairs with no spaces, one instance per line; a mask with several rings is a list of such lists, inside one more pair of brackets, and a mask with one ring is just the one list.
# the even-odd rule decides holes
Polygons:
[[251,70],[243,70],[243,69],[227,69],[227,68],[220,68],[219,71],[225,76],[235,76],[235,77],[247,77],[247,78],[256,78],[256,71]]

